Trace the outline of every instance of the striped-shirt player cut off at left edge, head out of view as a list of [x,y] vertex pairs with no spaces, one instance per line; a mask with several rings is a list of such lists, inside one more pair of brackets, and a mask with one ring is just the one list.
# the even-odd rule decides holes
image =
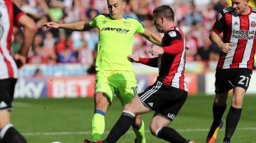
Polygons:
[[[10,48],[14,25],[23,27],[21,49],[14,57]],[[36,24],[22,12],[11,0],[0,0],[0,142],[25,143],[26,139],[12,126],[10,113],[14,88],[17,81],[17,68],[26,62]]]

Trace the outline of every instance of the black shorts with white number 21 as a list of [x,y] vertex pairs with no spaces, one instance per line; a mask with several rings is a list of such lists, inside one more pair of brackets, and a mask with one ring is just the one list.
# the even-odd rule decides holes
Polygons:
[[252,70],[248,68],[216,69],[215,92],[225,93],[234,87],[249,87]]

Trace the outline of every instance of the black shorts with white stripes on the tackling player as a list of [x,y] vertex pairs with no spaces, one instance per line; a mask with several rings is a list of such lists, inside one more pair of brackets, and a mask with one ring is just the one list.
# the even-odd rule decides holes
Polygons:
[[156,81],[154,85],[148,86],[140,93],[139,97],[147,108],[173,121],[187,99],[187,91]]

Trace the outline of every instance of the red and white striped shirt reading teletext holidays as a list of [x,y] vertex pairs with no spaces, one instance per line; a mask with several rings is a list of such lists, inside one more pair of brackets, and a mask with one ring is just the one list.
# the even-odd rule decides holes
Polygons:
[[223,42],[231,43],[228,53],[222,52],[217,68],[249,68],[254,65],[256,44],[256,9],[250,7],[249,14],[235,14],[229,7],[220,12],[214,24],[216,34],[223,32]]

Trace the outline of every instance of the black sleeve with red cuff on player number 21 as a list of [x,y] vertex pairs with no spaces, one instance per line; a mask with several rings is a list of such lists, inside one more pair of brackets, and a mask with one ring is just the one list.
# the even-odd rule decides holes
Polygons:
[[226,25],[225,15],[224,15],[224,12],[222,11],[218,14],[212,30],[216,32],[216,34],[220,34],[225,29],[225,25]]

